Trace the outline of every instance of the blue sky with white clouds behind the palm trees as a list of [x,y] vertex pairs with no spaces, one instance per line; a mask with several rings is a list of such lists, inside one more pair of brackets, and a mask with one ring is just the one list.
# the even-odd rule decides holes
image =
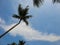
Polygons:
[[18,23],[12,18],[18,14],[18,5],[29,5],[29,26],[22,21],[16,28],[0,39],[0,45],[25,40],[28,45],[60,45],[60,4],[46,0],[41,7],[33,6],[32,0],[0,0],[0,35]]

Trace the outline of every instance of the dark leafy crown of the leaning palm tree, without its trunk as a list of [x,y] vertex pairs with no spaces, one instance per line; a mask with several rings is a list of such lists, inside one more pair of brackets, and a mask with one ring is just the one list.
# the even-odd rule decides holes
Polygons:
[[20,4],[19,7],[18,7],[18,15],[14,14],[13,17],[17,18],[17,19],[20,19],[20,21],[23,20],[26,23],[26,25],[28,25],[27,19],[32,17],[31,15],[27,15],[28,10],[29,10],[28,6],[23,9],[21,7],[21,4]]

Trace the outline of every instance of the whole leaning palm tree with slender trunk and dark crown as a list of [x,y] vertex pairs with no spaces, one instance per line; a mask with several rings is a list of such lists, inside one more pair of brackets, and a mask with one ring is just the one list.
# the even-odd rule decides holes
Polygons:
[[18,7],[18,15],[16,15],[16,14],[13,15],[14,18],[19,19],[19,22],[16,25],[14,25],[12,28],[10,28],[8,31],[3,33],[0,36],[0,38],[3,37],[5,34],[7,34],[9,31],[11,31],[13,28],[15,28],[17,25],[19,25],[22,20],[26,23],[26,25],[28,25],[27,19],[32,17],[31,15],[29,15],[29,16],[27,15],[28,14],[28,10],[29,10],[28,6],[26,6],[26,8],[23,9],[21,7],[21,4],[20,4],[19,7]]

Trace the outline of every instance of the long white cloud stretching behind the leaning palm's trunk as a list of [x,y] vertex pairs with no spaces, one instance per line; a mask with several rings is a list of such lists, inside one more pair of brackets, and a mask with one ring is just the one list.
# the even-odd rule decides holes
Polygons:
[[[7,31],[9,28],[11,28],[14,24],[11,25],[0,25],[5,31]],[[23,36],[26,40],[43,40],[43,41],[58,41],[60,40],[60,36],[57,36],[55,34],[48,34],[48,33],[42,33],[35,29],[33,29],[30,26],[26,26],[24,22],[21,22],[17,27],[15,27],[12,31],[9,32],[12,36]]]

